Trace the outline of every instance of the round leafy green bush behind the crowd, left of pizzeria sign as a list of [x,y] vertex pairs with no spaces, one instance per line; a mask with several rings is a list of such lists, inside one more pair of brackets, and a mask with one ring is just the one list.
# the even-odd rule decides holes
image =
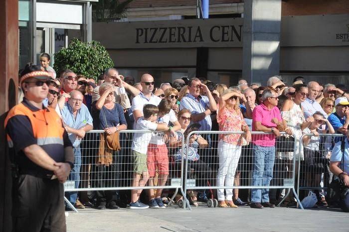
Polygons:
[[114,63],[104,46],[98,41],[82,42],[73,38],[68,48],[62,48],[54,55],[54,69],[61,73],[71,69],[76,74],[97,78]]

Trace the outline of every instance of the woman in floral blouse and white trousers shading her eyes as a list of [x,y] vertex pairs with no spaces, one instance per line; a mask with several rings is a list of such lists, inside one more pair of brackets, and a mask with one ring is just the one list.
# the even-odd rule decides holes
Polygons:
[[[240,111],[239,98],[243,95],[233,90],[225,90],[219,98],[217,121],[220,131],[244,131],[247,142],[251,141],[251,131],[247,126]],[[233,207],[233,184],[234,175],[241,155],[241,134],[220,134],[218,142],[218,174],[217,186],[227,186],[225,189],[217,189],[218,206]]]

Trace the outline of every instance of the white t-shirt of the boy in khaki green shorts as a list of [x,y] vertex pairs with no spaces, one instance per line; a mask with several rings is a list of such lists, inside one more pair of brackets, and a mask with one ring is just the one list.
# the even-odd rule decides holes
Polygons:
[[[148,120],[144,120],[144,117],[140,117],[135,124],[135,130],[156,130],[157,124]],[[148,144],[152,138],[152,132],[137,132],[133,135],[132,150],[142,154],[147,154]]]

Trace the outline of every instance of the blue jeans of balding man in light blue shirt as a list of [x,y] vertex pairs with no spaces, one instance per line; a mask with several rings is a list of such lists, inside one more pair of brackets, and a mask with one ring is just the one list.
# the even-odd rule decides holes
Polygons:
[[[81,168],[81,150],[80,147],[74,148],[74,167],[70,171],[70,174],[68,176],[68,180],[75,181],[74,187],[77,189],[79,188],[80,183],[80,168]],[[76,199],[78,197],[78,192],[65,192],[65,197],[68,199],[68,201],[75,205]]]

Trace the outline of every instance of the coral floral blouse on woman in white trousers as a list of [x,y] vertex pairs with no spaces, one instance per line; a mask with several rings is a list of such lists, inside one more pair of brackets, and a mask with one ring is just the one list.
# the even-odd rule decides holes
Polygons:
[[[247,126],[241,111],[222,109],[217,115],[220,131],[242,131],[242,126]],[[219,140],[241,146],[241,134],[220,134]]]

